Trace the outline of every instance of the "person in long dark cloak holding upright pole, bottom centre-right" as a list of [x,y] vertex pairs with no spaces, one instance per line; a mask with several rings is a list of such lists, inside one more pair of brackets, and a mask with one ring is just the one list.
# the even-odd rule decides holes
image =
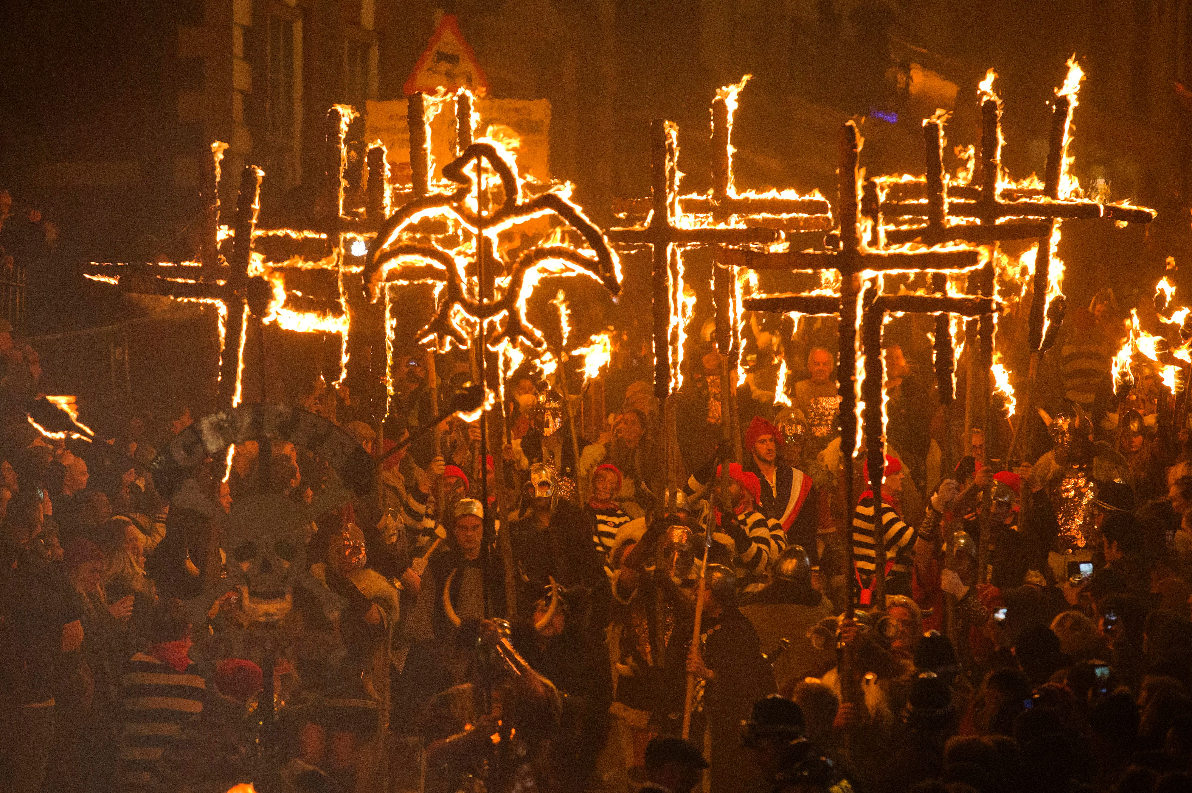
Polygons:
[[693,619],[671,633],[659,705],[652,723],[678,735],[683,726],[687,676],[695,676],[691,732],[712,737],[712,791],[760,789],[765,780],[740,744],[740,723],[757,700],[775,693],[774,670],[762,655],[752,623],[737,608],[737,576],[709,564],[704,576],[703,614],[696,647]]

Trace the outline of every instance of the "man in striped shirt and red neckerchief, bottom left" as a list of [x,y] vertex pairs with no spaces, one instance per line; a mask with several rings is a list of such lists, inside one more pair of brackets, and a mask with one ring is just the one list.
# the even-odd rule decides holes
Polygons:
[[120,782],[125,793],[148,791],[153,769],[182,723],[203,711],[206,685],[187,657],[191,619],[168,598],[153,610],[153,644],[124,673]]

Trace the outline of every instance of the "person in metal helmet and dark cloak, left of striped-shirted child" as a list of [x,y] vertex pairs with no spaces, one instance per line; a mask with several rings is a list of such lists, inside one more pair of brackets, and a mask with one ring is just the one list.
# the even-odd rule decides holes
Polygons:
[[560,498],[555,469],[545,463],[529,468],[526,482],[529,510],[513,524],[514,558],[534,581],[554,579],[560,586],[589,589],[604,580],[584,513]]

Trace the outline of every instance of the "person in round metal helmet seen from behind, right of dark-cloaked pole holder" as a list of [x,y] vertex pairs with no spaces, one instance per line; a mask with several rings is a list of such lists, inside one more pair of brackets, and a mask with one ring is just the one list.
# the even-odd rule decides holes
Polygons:
[[[762,649],[774,658],[780,692],[832,667],[832,654],[817,650],[808,638],[812,627],[832,616],[832,602],[812,586],[812,564],[802,547],[790,545],[778,555],[770,566],[770,582],[743,598],[740,611],[753,623]],[[790,645],[780,650],[783,639]]]

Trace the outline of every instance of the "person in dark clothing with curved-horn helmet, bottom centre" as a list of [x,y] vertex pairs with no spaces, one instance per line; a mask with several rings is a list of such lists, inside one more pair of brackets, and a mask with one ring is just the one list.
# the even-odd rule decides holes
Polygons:
[[579,624],[585,599],[583,587],[544,586],[528,610],[533,618],[515,623],[510,633],[517,652],[563,695],[559,735],[551,742],[557,791],[586,789],[608,741],[613,675],[602,632]]

